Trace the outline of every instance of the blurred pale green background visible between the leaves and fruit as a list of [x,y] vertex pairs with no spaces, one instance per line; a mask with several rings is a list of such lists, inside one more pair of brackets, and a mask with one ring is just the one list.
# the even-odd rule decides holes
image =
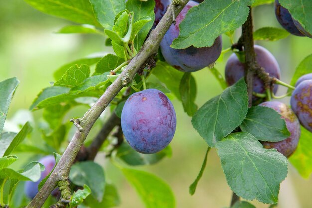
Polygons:
[[[56,34],[62,26],[72,24],[66,20],[40,13],[27,5],[23,0],[0,0],[0,80],[16,76],[20,85],[12,101],[8,118],[18,110],[28,109],[38,92],[48,87],[53,80],[53,72],[59,66],[97,52],[110,52],[105,47],[105,39],[97,35]],[[263,26],[280,27],[273,5],[263,5],[254,9],[255,29]],[[236,32],[236,40],[240,29]],[[224,48],[230,47],[227,37],[223,38]],[[281,80],[289,82],[296,66],[312,52],[312,39],[290,35],[276,42],[259,41],[273,53],[280,64]],[[222,73],[227,53],[218,61],[216,68]],[[196,103],[202,106],[210,98],[219,94],[222,89],[209,72],[203,69],[193,73],[197,81],[198,94]],[[286,91],[280,87],[278,94]],[[201,167],[207,148],[204,140],[191,125],[191,118],[184,112],[177,100],[172,100],[177,112],[177,130],[172,144],[173,156],[160,163],[142,169],[153,172],[163,178],[173,189],[177,208],[223,208],[231,199],[231,190],[226,183],[219,158],[214,150],[209,153],[207,167],[199,182],[194,196],[188,193]],[[283,100],[289,103],[289,99]],[[66,118],[80,117],[86,107],[74,108]],[[35,111],[35,120],[41,117],[42,111]],[[95,126],[91,136],[99,129]],[[41,140],[39,132],[34,131],[31,141]],[[33,155],[18,154],[23,161],[30,160]],[[106,178],[116,184],[120,198],[120,208],[144,208],[143,203],[130,187],[119,170],[106,163],[104,156],[99,155],[96,161],[104,164]],[[22,164],[22,161],[19,165]],[[15,165],[18,168],[18,164]],[[140,167],[141,168],[141,167]],[[289,174],[282,183],[278,208],[312,208],[312,178],[302,179],[289,164]],[[268,205],[253,202],[257,208]]]

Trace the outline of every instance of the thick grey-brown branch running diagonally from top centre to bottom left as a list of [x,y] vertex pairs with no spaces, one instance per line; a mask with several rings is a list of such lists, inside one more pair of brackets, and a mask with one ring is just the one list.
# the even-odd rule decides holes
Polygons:
[[172,1],[167,12],[160,20],[156,28],[150,33],[138,54],[130,61],[127,68],[106,89],[104,94],[82,117],[79,125],[83,128],[83,131],[79,131],[79,129],[76,130],[71,142],[63,153],[54,171],[51,173],[50,177],[39,190],[37,195],[28,204],[27,208],[41,208],[50,193],[55,188],[57,182],[67,179],[70,168],[73,165],[73,162],[95,121],[112,101],[112,99],[118,94],[118,92],[132,81],[136,72],[141,68],[145,61],[158,51],[159,44],[163,36],[172,24],[172,16],[177,16],[188,1],[189,0]]

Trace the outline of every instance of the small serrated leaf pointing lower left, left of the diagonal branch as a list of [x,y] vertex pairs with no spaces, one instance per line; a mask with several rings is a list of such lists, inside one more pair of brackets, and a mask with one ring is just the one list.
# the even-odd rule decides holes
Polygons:
[[[58,100],[64,100],[68,98],[67,93],[69,92],[70,88],[68,87],[47,87],[44,88],[36,97],[36,99],[33,101],[33,103],[30,106],[30,110],[37,110],[40,108],[39,104],[42,104],[43,101],[46,103],[49,103],[52,101],[55,104],[58,104],[59,102],[56,102]],[[52,105],[52,104],[50,104]]]

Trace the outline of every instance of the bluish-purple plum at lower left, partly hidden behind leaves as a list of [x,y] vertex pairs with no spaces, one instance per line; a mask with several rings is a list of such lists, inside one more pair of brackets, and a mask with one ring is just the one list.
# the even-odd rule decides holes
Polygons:
[[[44,165],[45,170],[41,172],[41,177],[37,182],[26,181],[24,186],[25,194],[28,198],[33,199],[38,193],[38,185],[40,182],[53,170],[55,165],[55,158],[53,155],[48,155],[41,158],[39,161],[42,165]],[[59,193],[58,189],[54,189],[52,191],[53,196],[57,196]]]

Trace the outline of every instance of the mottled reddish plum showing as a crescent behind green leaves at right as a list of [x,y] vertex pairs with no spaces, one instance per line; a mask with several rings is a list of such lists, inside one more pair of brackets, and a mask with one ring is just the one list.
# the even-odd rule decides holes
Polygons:
[[291,156],[297,148],[301,130],[300,123],[295,113],[292,111],[290,107],[288,107],[285,103],[281,103],[278,101],[268,101],[261,103],[260,106],[266,106],[277,111],[281,118],[283,118],[286,122],[286,127],[291,135],[279,142],[264,142],[261,141],[262,145],[266,149],[275,148],[279,153],[282,153],[285,157]]

